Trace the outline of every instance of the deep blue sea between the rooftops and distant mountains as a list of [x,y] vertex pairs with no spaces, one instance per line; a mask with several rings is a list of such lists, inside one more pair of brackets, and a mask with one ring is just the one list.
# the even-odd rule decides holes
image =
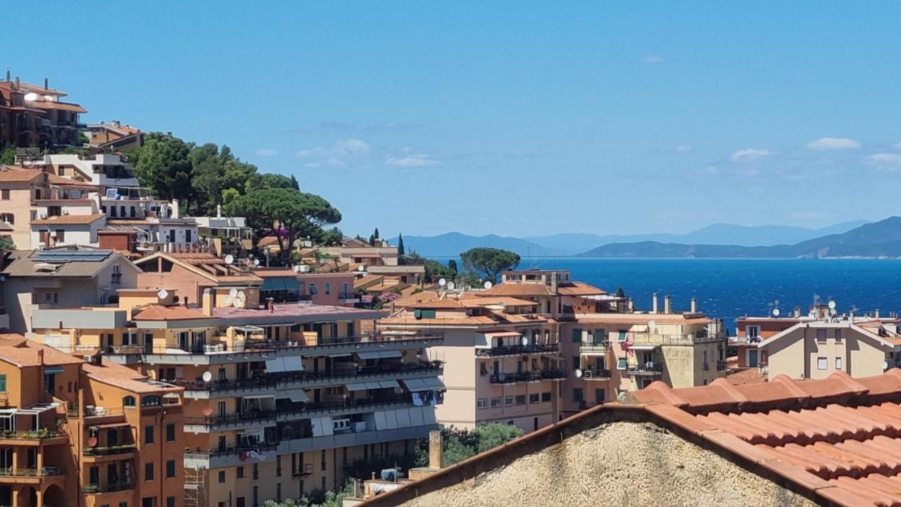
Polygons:
[[[448,258],[441,259],[446,263]],[[460,261],[458,260],[458,265]],[[734,333],[735,318],[783,316],[815,300],[834,300],[839,312],[883,315],[901,311],[901,261],[876,259],[587,259],[523,258],[518,269],[560,269],[614,293],[622,287],[637,309],[651,308],[651,295],[672,296],[674,310],[698,310],[723,318]]]

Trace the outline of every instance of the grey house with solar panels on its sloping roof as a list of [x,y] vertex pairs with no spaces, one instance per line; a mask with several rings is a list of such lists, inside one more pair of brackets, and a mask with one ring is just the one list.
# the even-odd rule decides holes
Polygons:
[[139,269],[111,250],[17,250],[0,268],[9,329],[32,331],[37,309],[105,305],[116,291],[136,286]]

